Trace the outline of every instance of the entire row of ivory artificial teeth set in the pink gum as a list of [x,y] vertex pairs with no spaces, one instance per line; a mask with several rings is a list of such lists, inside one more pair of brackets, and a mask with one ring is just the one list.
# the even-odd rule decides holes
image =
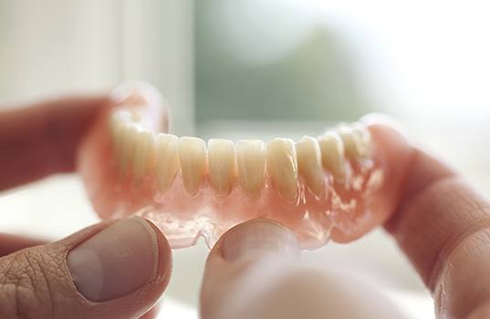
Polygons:
[[327,170],[334,180],[344,181],[347,159],[365,159],[370,153],[370,134],[360,124],[343,125],[317,139],[203,139],[158,133],[142,129],[128,118],[113,116],[111,132],[120,170],[130,172],[138,184],[145,176],[155,175],[156,186],[164,193],[179,172],[190,194],[195,194],[209,176],[218,197],[226,196],[235,180],[251,200],[260,197],[266,176],[281,196],[295,201],[298,177],[301,176],[316,196],[325,190],[323,174]]

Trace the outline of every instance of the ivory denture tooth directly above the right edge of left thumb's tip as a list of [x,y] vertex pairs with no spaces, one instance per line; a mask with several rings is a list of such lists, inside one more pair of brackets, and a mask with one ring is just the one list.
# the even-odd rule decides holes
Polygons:
[[159,133],[155,139],[155,165],[157,187],[164,193],[170,189],[180,169],[179,138],[172,134]]

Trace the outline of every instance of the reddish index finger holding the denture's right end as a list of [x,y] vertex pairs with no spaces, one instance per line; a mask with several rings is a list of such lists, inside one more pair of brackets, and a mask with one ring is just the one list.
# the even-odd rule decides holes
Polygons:
[[[370,129],[396,134],[385,126]],[[436,313],[444,318],[490,314],[484,314],[490,309],[490,203],[421,149],[385,142],[389,161],[401,149],[412,154],[385,228],[433,293]]]

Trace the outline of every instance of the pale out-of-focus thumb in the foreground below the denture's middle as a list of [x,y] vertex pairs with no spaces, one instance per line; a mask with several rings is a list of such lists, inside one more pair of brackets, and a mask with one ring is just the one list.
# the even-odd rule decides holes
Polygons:
[[295,235],[276,221],[246,221],[210,252],[201,289],[203,319],[404,318],[348,272],[297,259]]

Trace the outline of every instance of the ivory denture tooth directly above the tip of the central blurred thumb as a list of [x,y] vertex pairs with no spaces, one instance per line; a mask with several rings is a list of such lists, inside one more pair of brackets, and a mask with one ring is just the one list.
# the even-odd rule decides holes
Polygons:
[[266,147],[259,139],[242,139],[236,144],[236,169],[238,182],[246,196],[258,200],[264,188]]

